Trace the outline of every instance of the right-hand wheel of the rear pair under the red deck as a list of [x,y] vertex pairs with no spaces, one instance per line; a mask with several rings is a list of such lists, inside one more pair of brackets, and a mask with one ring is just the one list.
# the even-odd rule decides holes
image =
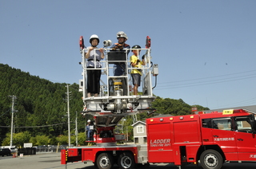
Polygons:
[[120,169],[132,169],[134,166],[134,155],[130,152],[123,152],[118,156],[118,167],[120,167]]

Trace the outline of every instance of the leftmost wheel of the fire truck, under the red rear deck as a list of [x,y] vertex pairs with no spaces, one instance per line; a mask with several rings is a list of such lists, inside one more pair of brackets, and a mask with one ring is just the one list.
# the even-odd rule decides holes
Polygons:
[[110,169],[114,164],[113,157],[109,153],[102,153],[97,157],[98,169]]

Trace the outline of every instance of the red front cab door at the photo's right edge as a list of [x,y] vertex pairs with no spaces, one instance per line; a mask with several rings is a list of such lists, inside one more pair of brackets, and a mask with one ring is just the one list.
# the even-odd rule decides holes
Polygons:
[[236,124],[235,140],[238,147],[238,160],[256,160],[256,138],[252,133],[249,116],[234,117]]

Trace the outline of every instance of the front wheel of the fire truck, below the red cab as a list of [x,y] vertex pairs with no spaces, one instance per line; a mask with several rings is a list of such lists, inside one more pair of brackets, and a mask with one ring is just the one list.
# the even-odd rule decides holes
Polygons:
[[200,156],[200,163],[204,169],[220,169],[222,167],[222,155],[215,150],[206,150]]

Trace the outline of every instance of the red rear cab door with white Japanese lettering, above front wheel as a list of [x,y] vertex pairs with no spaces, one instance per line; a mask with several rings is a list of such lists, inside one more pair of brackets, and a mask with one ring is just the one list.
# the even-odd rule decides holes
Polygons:
[[227,160],[238,160],[235,132],[231,128],[231,121],[230,117],[212,120],[213,143],[222,148]]

